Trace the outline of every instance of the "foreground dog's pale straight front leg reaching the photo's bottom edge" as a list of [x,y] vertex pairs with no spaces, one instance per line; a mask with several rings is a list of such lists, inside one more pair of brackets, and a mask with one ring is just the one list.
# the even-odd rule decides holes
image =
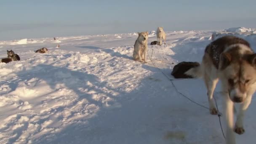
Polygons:
[[234,128],[234,103],[229,98],[228,93],[224,94],[224,112],[227,123],[226,144],[235,144]]

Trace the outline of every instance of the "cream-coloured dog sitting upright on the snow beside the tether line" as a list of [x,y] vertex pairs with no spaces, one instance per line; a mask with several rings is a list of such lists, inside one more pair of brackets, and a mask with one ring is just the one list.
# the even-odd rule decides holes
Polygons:
[[133,59],[147,63],[147,40],[149,32],[138,32],[138,38],[134,44]]

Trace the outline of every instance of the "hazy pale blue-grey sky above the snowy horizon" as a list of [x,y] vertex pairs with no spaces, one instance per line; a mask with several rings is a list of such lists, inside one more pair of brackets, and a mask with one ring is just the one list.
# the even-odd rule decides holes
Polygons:
[[256,0],[1,0],[0,41],[256,27]]

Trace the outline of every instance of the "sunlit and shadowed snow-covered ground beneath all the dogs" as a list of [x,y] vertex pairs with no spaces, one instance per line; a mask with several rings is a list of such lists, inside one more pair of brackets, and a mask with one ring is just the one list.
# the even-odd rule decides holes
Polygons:
[[[181,61],[201,61],[211,31],[166,32],[166,45],[149,55],[171,77]],[[256,37],[244,36],[252,47]],[[184,99],[148,60],[131,59],[136,33],[0,41],[1,144],[223,144],[219,118]],[[152,31],[149,43],[156,40]],[[56,48],[60,44],[60,48]],[[49,52],[35,53],[46,47]],[[200,79],[173,81],[208,107]],[[219,88],[215,93],[222,110]],[[256,98],[237,144],[256,141]],[[221,117],[224,125],[224,120]],[[224,126],[225,127],[225,126]]]

